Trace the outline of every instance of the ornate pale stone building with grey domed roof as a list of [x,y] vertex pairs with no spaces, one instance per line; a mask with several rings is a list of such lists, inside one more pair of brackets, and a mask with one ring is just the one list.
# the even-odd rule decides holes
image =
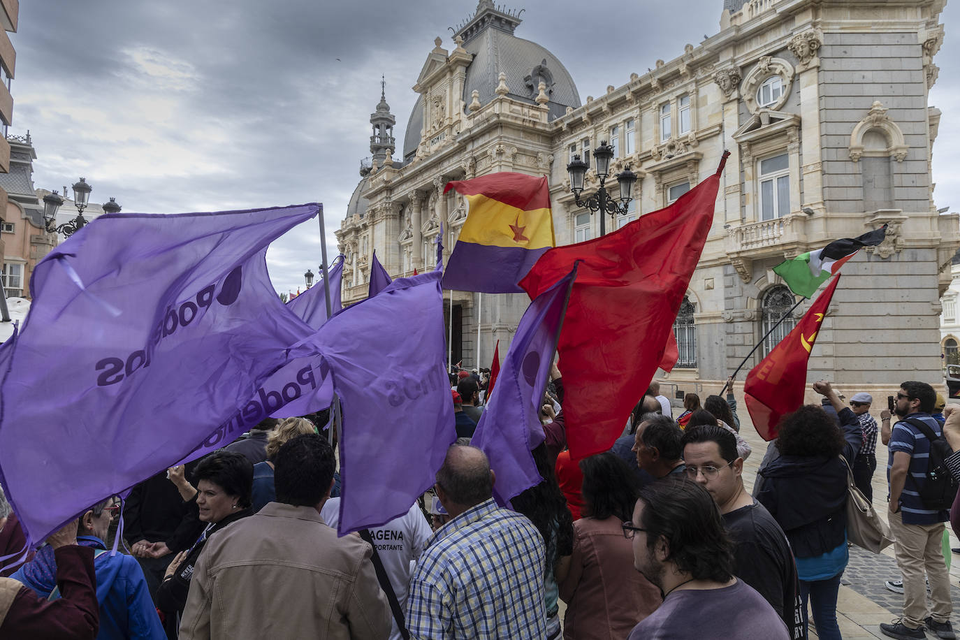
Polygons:
[[[438,37],[427,55],[402,154],[394,156],[382,96],[372,114],[372,166],[337,231],[348,256],[344,300],[365,296],[373,249],[392,275],[430,269],[443,222],[448,252],[467,215],[459,196],[443,194],[448,180],[546,174],[566,244],[599,230],[570,194],[573,154],[609,141],[611,173],[630,165],[639,177],[628,215],[608,221],[617,228],[679,198],[728,149],[714,225],[677,319],[681,360],[661,379],[683,391],[724,379],[794,302],[776,264],[888,224],[887,240],[844,268],[810,378],[876,391],[904,376],[939,382],[939,297],[960,245],[958,217],[937,211],[930,180],[941,113],[927,92],[944,4],[724,0],[718,34],[582,104],[560,60],[514,35],[518,13],[481,0],[453,48]],[[597,184],[589,171],[588,191]],[[451,297],[453,360],[465,366],[489,366],[527,304],[483,298]]]

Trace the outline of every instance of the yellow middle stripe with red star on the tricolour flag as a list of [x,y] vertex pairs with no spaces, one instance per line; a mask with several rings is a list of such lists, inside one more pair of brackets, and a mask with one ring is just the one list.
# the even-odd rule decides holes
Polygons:
[[459,240],[488,247],[556,246],[550,209],[524,211],[482,194],[465,198],[470,208]]

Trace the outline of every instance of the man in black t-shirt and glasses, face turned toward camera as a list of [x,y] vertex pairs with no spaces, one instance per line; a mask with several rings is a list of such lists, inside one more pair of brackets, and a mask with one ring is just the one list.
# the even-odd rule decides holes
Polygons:
[[792,638],[804,638],[793,553],[777,521],[744,488],[733,434],[719,426],[693,427],[683,442],[687,477],[708,490],[731,534],[733,575],[774,607]]

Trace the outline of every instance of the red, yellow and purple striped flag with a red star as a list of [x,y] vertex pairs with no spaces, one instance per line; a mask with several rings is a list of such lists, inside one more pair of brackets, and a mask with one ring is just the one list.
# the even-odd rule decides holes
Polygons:
[[446,183],[469,212],[444,271],[444,289],[520,293],[517,282],[556,245],[546,178],[500,172]]

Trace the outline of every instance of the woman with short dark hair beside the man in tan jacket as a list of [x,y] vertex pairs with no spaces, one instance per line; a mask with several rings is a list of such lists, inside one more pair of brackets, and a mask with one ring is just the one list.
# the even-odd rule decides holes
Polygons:
[[[253,464],[243,454],[229,451],[210,454],[197,464],[193,478],[197,492],[190,502],[200,521],[207,524],[197,541],[174,557],[156,589],[156,608],[166,616],[183,613],[193,567],[207,538],[231,522],[252,514]],[[181,494],[184,489],[180,486]]]

